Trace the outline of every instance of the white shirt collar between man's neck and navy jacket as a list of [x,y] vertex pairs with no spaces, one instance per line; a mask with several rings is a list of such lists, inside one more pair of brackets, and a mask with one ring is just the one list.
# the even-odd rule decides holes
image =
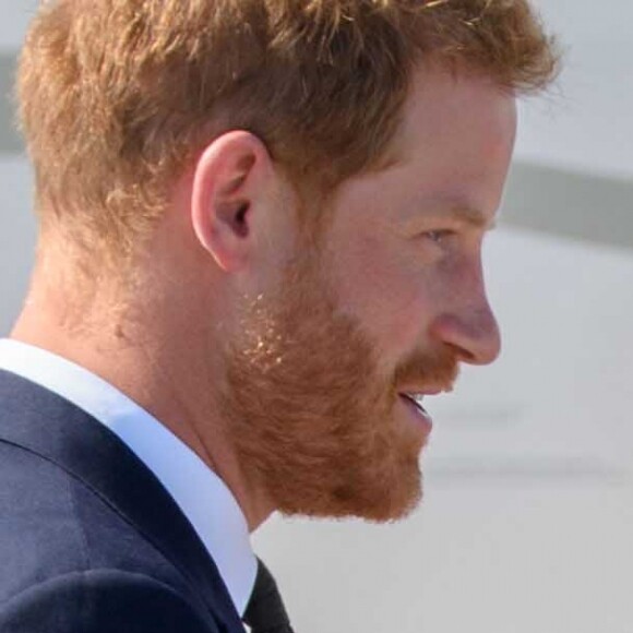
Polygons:
[[70,401],[108,427],[136,454],[198,533],[238,613],[243,616],[255,582],[256,559],[246,517],[223,480],[156,418],[83,367],[5,338],[0,339],[0,369]]

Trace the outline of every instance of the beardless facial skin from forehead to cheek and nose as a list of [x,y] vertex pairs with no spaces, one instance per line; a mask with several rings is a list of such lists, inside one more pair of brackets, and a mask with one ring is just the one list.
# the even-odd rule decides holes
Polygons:
[[476,365],[499,355],[481,247],[515,130],[514,98],[486,77],[420,73],[392,166],[350,179],[336,195],[334,285],[382,342],[385,363],[415,346],[450,346]]

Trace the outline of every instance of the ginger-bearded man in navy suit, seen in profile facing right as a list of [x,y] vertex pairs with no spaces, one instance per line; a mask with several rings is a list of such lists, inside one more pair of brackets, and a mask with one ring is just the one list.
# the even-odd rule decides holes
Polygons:
[[524,0],[43,4],[0,631],[289,631],[250,532],[416,506],[421,398],[499,351],[481,243],[554,65]]

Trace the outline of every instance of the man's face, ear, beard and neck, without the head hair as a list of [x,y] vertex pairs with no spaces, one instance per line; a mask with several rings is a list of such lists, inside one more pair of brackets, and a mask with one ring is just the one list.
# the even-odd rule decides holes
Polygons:
[[[279,509],[403,516],[419,499],[428,429],[398,394],[449,389],[459,362],[499,354],[481,246],[515,127],[513,96],[490,80],[418,69],[389,167],[341,186],[318,244],[304,241],[295,190],[261,141],[224,134],[176,184],[133,284],[100,279],[89,299],[80,296],[63,230],[41,236],[12,336],[86,367],[152,413],[223,478],[251,529]],[[330,374],[335,382],[324,379],[316,396],[309,379]],[[334,392],[342,406],[327,408],[323,394]],[[240,393],[252,402],[240,404]],[[332,417],[335,408],[345,415]],[[240,444],[240,423],[270,430],[272,418],[286,426],[270,451]],[[286,437],[292,450],[275,453]],[[253,455],[267,466],[249,468]],[[319,488],[323,473],[348,462],[354,468]],[[295,473],[296,490],[279,485]]]

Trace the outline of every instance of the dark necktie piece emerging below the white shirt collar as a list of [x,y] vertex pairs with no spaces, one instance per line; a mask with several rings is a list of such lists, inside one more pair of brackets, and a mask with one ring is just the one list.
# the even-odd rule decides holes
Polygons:
[[260,559],[255,586],[243,621],[251,628],[252,633],[294,633],[277,583]]

